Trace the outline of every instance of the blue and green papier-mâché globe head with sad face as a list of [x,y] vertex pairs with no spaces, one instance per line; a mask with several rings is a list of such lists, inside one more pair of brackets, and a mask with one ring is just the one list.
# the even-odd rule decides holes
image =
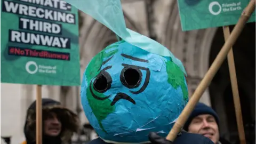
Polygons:
[[107,141],[146,142],[166,136],[188,101],[185,76],[170,57],[125,41],[90,61],[81,86],[87,119]]

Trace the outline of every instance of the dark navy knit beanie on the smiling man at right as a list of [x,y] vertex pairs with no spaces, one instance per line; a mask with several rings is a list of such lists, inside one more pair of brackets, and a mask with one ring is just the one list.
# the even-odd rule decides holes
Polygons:
[[188,117],[187,122],[183,126],[183,130],[188,131],[188,126],[191,121],[197,117],[198,115],[209,114],[215,118],[216,123],[219,125],[219,117],[217,113],[209,106],[206,106],[204,103],[198,102],[195,106],[195,109],[192,111],[190,116]]

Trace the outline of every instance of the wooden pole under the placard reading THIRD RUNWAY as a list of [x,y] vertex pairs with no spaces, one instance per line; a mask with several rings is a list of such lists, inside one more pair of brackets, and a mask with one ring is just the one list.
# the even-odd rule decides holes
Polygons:
[[42,144],[42,85],[36,86],[36,144]]

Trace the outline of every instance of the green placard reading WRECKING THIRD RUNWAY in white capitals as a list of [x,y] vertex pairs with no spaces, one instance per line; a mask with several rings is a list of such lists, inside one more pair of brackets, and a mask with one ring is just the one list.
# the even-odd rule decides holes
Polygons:
[[78,10],[61,0],[1,4],[1,82],[80,85]]

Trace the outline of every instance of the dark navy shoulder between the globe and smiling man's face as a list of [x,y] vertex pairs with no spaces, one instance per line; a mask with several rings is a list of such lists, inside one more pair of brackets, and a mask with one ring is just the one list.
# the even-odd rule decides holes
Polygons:
[[209,138],[200,134],[181,132],[174,140],[173,144],[214,144]]

